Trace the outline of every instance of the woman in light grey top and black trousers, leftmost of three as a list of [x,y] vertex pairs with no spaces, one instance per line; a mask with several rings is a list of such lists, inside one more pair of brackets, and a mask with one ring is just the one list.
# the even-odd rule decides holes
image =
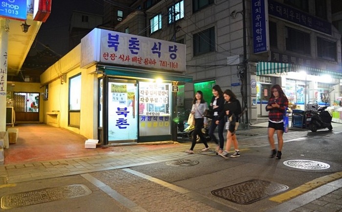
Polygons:
[[[202,140],[205,146],[205,148],[202,149],[202,151],[207,151],[209,149],[209,146],[207,144],[207,139],[204,137],[202,133],[203,124],[204,126],[208,125],[207,117],[203,117],[203,113],[206,109],[208,109],[208,104],[203,99],[203,93],[202,91],[197,91],[195,98],[192,101],[192,109],[191,109],[191,114],[194,116],[194,122],[195,122],[194,123],[195,129],[193,130],[193,134],[192,134],[192,145],[190,149],[185,151],[189,154],[193,154],[193,148],[196,145],[197,135],[200,137],[200,139]],[[189,124],[192,124],[192,123],[189,123]]]

